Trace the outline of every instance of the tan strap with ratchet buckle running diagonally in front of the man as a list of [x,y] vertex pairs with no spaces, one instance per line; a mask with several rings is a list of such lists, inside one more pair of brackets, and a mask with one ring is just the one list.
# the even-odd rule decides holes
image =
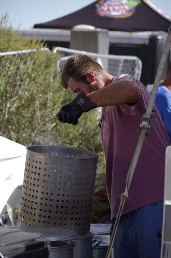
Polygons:
[[[158,87],[159,87],[159,84],[160,84],[162,72],[163,72],[163,69],[165,67],[167,56],[169,54],[170,43],[171,43],[171,24],[170,24],[170,27],[168,29],[168,36],[167,36],[167,39],[166,39],[165,47],[164,47],[163,53],[161,55],[161,59],[160,59],[160,62],[159,62],[159,67],[158,67],[158,70],[157,70],[156,78],[154,80],[153,90],[152,90],[152,93],[151,93],[151,96],[150,96],[150,100],[149,100],[147,109],[145,111],[145,115],[143,115],[143,118],[149,118],[150,119],[150,117],[151,117],[152,108],[154,106],[154,101],[156,99],[156,94],[157,94],[157,90],[158,90]],[[142,121],[143,121],[143,119],[142,119]],[[127,174],[125,192],[120,195],[120,198],[121,198],[120,206],[119,206],[118,214],[117,214],[117,217],[116,217],[116,220],[115,220],[114,228],[113,228],[113,231],[112,231],[110,244],[109,244],[108,249],[107,249],[106,258],[110,258],[110,255],[111,255],[112,246],[113,246],[114,238],[115,238],[115,235],[116,235],[116,230],[117,230],[117,227],[118,227],[118,224],[119,224],[120,216],[122,214],[122,210],[123,210],[123,207],[124,207],[124,204],[125,204],[125,200],[126,200],[126,198],[128,198],[128,190],[129,190],[129,187],[130,187],[130,184],[131,184],[132,177],[134,175],[134,171],[135,171],[139,156],[141,154],[141,149],[143,147],[145,136],[147,135],[146,134],[147,133],[146,129],[148,128],[148,126],[149,126],[149,123],[146,125],[146,127],[144,127],[144,128],[141,127],[141,130],[140,130],[140,135],[139,135],[137,147],[135,149],[134,156],[133,156],[133,159],[131,161],[131,164],[130,164],[130,167],[129,167],[129,170],[128,170],[128,174]]]

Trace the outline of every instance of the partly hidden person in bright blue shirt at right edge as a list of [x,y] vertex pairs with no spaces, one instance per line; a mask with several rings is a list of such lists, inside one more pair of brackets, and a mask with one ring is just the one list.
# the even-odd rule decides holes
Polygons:
[[154,103],[163,119],[171,143],[171,62],[169,63],[164,81],[159,85]]

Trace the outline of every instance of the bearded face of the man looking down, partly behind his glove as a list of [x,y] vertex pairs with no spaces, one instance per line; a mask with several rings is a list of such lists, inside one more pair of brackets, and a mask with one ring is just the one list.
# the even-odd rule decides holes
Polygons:
[[86,84],[83,82],[76,82],[73,78],[69,77],[68,89],[71,92],[79,94],[83,88],[85,88],[88,93],[91,93],[93,91],[100,89],[97,81],[90,83],[90,84]]

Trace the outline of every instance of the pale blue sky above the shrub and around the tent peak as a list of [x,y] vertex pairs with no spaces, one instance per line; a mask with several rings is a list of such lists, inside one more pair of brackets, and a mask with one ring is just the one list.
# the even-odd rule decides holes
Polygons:
[[[151,0],[171,16],[171,0]],[[0,17],[8,12],[13,28],[32,28],[35,23],[50,21],[93,3],[90,0],[0,0]]]

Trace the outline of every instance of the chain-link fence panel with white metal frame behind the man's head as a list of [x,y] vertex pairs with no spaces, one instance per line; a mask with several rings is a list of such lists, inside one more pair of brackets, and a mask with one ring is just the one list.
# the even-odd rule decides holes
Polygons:
[[94,61],[98,62],[106,72],[114,76],[120,74],[129,74],[140,79],[142,62],[138,57],[135,56],[125,56],[125,55],[103,55],[97,53],[91,53],[86,51],[78,51],[74,49],[67,49],[64,47],[55,47],[54,52],[60,51],[65,54],[57,64],[58,72],[65,65],[68,58],[73,54],[88,55]]

